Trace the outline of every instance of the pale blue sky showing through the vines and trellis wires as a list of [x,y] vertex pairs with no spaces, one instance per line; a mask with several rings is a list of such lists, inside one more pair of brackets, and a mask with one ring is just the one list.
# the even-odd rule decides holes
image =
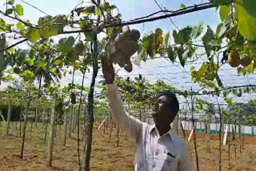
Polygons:
[[[44,11],[46,14],[52,16],[57,14],[70,14],[70,11],[76,6],[80,0],[24,0],[30,4],[37,6],[38,9]],[[168,10],[178,10],[182,3],[186,6],[193,6],[194,4],[199,4],[203,2],[208,2],[208,0],[157,0],[160,6],[165,6]],[[0,9],[3,10],[2,3],[0,1]],[[37,22],[39,17],[45,16],[34,9],[31,6],[26,5],[21,0],[16,0],[16,3],[21,3],[25,9],[25,15],[22,19],[30,19],[30,22]],[[154,0],[113,0],[108,1],[110,4],[118,6],[119,12],[122,14],[122,19],[128,21],[130,19],[139,18],[148,14],[152,14],[159,10],[158,6]],[[89,1],[85,1],[83,5],[90,4]],[[192,14],[184,14],[178,17],[172,18],[173,22],[179,29],[188,25],[197,25],[199,22],[203,22],[205,27],[210,26],[213,30],[216,30],[218,23],[221,22],[219,18],[218,11],[215,9],[202,10]],[[169,19],[162,19],[155,22],[147,22],[144,24],[138,24],[130,26],[131,29],[138,29],[142,34],[146,34],[149,31],[155,30],[156,28],[162,28],[164,33],[170,31],[172,33],[175,30],[175,27],[172,25]],[[173,42],[171,39],[170,42]],[[202,65],[201,61],[198,61],[193,64],[197,68]],[[190,89],[191,87],[194,90],[200,89],[200,87],[191,82],[190,78],[190,66],[186,65],[185,68],[178,64],[172,64],[166,59],[157,59],[149,60],[147,62],[142,62],[140,66],[134,65],[134,70],[132,73],[127,73],[124,70],[121,70],[118,74],[123,77],[130,76],[131,78],[142,74],[150,82],[155,82],[158,79],[165,80],[168,84],[176,86],[178,89]],[[99,72],[101,74],[101,72]],[[248,77],[240,76],[238,77],[237,70],[231,68],[228,65],[222,66],[221,71],[219,72],[220,78],[225,86],[229,85],[247,85],[247,84],[256,84],[255,75],[252,74]],[[91,73],[86,74],[86,85],[90,85]],[[66,85],[71,82],[71,76],[68,75],[67,78],[62,80],[62,85]],[[82,82],[82,75],[76,74],[75,78],[76,83]],[[254,94],[243,94],[242,97],[238,98],[237,101],[248,101],[250,98],[253,98]],[[184,101],[184,98],[179,97],[181,101]],[[206,100],[212,101],[212,97],[205,97]],[[219,101],[223,102],[223,99],[220,98]]]

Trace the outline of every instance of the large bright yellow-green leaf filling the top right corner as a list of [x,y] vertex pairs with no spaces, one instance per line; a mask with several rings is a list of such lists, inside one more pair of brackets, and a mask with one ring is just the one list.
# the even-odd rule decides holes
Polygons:
[[256,1],[238,0],[235,7],[240,34],[249,41],[256,41]]

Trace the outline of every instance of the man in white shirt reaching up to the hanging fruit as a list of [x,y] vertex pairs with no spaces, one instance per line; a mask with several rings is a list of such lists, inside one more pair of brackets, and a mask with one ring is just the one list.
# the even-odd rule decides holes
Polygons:
[[170,129],[179,109],[175,94],[170,91],[158,93],[152,115],[154,125],[149,125],[126,114],[114,84],[113,65],[106,58],[102,58],[102,72],[108,84],[110,109],[121,128],[136,141],[135,171],[190,171],[186,143]]

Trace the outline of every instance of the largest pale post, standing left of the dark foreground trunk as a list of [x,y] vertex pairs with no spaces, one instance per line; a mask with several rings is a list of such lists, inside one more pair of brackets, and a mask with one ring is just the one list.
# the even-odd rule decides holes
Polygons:
[[49,165],[52,166],[52,159],[53,159],[53,152],[54,152],[54,128],[55,128],[55,118],[56,118],[56,101],[57,101],[57,94],[55,93],[53,96],[53,105],[50,115],[50,133],[49,133],[49,157],[48,162]]

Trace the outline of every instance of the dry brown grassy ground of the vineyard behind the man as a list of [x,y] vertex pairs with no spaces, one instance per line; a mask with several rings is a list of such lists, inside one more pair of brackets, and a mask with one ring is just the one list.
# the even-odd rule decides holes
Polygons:
[[[91,156],[92,170],[134,170],[134,141],[126,140],[126,133],[120,131],[119,145],[117,147],[117,129],[113,130],[109,140],[110,129],[98,130],[94,125],[94,140]],[[10,135],[6,136],[6,127],[0,126],[0,170],[78,170],[77,134],[67,136],[66,146],[63,146],[64,128],[58,126],[57,137],[54,144],[53,167],[47,165],[47,140],[44,143],[45,129],[42,125],[31,131],[28,123],[24,158],[20,159],[22,138],[18,129],[11,125]],[[206,153],[206,143],[202,133],[198,134],[198,157],[200,170],[218,170],[218,137],[212,135],[211,153]],[[237,157],[234,157],[234,146],[230,146],[231,169],[228,164],[228,145],[222,147],[222,170],[256,170],[256,138],[246,137],[244,149],[239,152],[237,143]],[[81,141],[81,151],[83,142]],[[190,158],[195,170],[193,141],[188,143]],[[83,152],[82,152],[83,153]],[[83,159],[84,157],[82,157]]]

